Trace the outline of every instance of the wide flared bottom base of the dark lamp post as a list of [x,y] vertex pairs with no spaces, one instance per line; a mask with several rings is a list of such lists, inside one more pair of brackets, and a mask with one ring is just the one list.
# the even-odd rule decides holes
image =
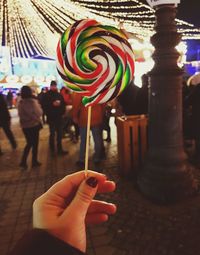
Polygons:
[[152,202],[171,204],[193,196],[197,191],[192,166],[153,165],[150,162],[138,176],[140,191]]

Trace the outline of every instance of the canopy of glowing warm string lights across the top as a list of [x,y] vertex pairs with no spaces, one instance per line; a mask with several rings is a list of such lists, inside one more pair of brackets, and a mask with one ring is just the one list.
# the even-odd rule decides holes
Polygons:
[[[71,10],[75,10],[72,12]],[[4,0],[0,1],[0,40],[13,57],[55,57],[61,33],[74,21],[93,18],[118,26],[144,40],[154,33],[155,11],[138,0]],[[185,39],[200,39],[200,29],[176,19]]]

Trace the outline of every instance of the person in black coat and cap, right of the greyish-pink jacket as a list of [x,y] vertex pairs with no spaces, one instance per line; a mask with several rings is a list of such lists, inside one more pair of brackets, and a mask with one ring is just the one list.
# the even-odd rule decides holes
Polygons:
[[51,81],[50,90],[43,97],[43,110],[47,116],[49,125],[49,145],[52,154],[55,152],[55,135],[57,138],[57,153],[60,155],[67,154],[62,148],[62,127],[63,115],[65,113],[65,102],[63,96],[57,90],[56,81]]

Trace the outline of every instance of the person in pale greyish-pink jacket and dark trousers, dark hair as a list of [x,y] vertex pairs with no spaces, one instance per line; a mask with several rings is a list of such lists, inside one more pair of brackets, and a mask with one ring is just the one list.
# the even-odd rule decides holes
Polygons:
[[38,100],[32,95],[32,90],[28,86],[21,89],[21,100],[18,103],[18,114],[22,131],[26,139],[26,145],[23,151],[20,166],[27,168],[28,154],[32,148],[32,167],[38,167],[41,163],[38,161],[39,132],[42,128],[41,116],[42,108]]

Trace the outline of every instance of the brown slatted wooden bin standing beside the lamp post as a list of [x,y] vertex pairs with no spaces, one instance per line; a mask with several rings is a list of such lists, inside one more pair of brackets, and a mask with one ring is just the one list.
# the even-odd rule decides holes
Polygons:
[[119,170],[122,175],[133,173],[144,161],[147,151],[147,117],[117,117]]

